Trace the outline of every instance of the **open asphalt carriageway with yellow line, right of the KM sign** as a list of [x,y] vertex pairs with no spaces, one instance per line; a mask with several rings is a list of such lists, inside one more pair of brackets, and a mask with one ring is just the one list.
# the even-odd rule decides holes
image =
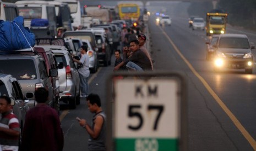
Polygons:
[[[151,18],[152,51],[154,59],[158,60],[155,68],[181,71],[189,81],[190,150],[253,150],[256,138],[253,126],[255,75],[244,74],[242,70],[215,73],[211,62],[205,59],[205,32],[192,31],[188,28],[187,19],[172,18],[173,24],[171,27],[165,26],[165,32],[161,30],[163,27],[158,26],[157,29],[154,18]],[[168,40],[165,34],[171,40]],[[255,37],[253,34],[250,36]],[[191,69],[184,65],[184,60],[173,47],[181,52],[199,75],[191,73]],[[206,86],[213,92],[205,90]],[[227,108],[225,105],[220,106],[218,101],[224,103]],[[235,118],[232,115],[227,116],[225,112],[233,114]],[[235,126],[235,123],[239,124]]]

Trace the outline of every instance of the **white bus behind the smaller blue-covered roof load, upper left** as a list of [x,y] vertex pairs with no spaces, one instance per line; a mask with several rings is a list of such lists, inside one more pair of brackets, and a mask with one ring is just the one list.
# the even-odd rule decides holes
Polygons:
[[50,31],[57,34],[55,5],[48,4],[47,1],[17,1],[15,4],[19,10],[19,16],[24,17],[24,26],[30,28],[32,19],[47,19]]

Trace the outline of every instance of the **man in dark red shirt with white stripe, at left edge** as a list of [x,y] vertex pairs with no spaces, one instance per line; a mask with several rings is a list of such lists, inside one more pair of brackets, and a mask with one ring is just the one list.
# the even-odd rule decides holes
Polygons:
[[0,96],[0,150],[19,149],[20,125],[8,96]]

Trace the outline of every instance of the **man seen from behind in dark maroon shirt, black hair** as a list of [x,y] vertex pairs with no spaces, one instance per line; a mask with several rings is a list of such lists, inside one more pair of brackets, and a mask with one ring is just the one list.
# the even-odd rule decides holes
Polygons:
[[61,121],[55,109],[46,104],[48,91],[38,88],[35,91],[37,105],[26,113],[21,150],[61,151],[64,138]]

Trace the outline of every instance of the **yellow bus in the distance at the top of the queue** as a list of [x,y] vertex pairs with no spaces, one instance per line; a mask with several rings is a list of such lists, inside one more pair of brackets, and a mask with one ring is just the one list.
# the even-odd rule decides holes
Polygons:
[[118,4],[118,14],[121,20],[137,21],[140,16],[140,8],[138,4],[121,3]]

